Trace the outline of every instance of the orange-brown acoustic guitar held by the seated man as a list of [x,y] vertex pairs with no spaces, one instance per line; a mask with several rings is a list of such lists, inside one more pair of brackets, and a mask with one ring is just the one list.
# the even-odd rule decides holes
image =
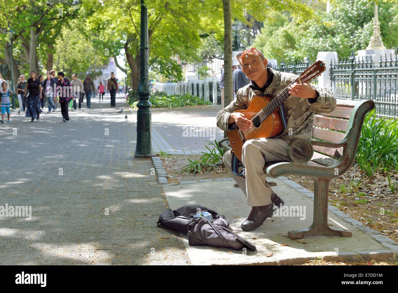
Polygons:
[[293,85],[293,83],[302,84],[309,82],[324,71],[325,63],[316,61],[274,98],[269,95],[254,95],[246,110],[235,110],[234,112],[244,114],[248,120],[253,122],[252,127],[248,130],[240,130],[237,127],[233,131],[227,132],[232,152],[236,158],[242,161],[242,146],[246,140],[281,136],[286,130],[287,123],[282,105],[291,96],[288,87]]

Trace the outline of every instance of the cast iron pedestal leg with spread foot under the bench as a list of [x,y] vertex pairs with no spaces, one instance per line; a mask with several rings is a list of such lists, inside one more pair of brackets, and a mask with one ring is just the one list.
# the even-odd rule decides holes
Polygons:
[[352,236],[352,233],[349,231],[330,228],[328,225],[329,182],[329,178],[314,177],[314,221],[308,228],[289,231],[287,236],[293,239],[314,235],[337,235],[341,237]]

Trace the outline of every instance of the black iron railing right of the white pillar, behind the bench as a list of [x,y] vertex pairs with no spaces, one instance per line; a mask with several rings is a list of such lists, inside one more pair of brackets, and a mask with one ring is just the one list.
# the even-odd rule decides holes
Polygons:
[[336,98],[374,100],[378,117],[398,118],[397,113],[398,59],[397,52],[384,54],[377,62],[372,57],[332,60],[330,89]]

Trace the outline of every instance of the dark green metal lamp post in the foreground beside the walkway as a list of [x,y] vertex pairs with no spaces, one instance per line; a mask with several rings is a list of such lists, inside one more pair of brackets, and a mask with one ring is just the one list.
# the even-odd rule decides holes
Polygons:
[[148,85],[148,8],[141,0],[141,44],[140,44],[140,84],[138,86],[139,102],[137,103],[137,146],[134,155],[136,157],[151,157],[151,111],[149,102]]

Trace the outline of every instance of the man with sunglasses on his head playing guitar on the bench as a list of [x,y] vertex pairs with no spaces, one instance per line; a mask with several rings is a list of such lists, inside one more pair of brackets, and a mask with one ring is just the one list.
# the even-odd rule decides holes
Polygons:
[[[224,153],[222,161],[247,197],[252,206],[248,218],[242,223],[244,231],[261,226],[266,218],[272,216],[273,205],[283,205],[283,199],[277,196],[265,180],[265,163],[271,161],[290,161],[286,148],[294,138],[311,138],[314,112],[332,112],[336,108],[336,99],[330,90],[308,83],[291,83],[297,79],[293,73],[275,71],[267,67],[267,59],[256,48],[247,49],[236,55],[242,70],[250,83],[238,90],[235,100],[217,113],[217,126],[224,131],[238,127],[248,130],[252,121],[235,110],[247,109],[255,95],[275,97],[288,87],[289,98],[283,102],[283,112],[287,121],[285,132],[277,138],[256,138],[246,140],[242,147],[244,177],[235,175],[231,170],[231,150]],[[234,112],[234,113],[232,113]]]

